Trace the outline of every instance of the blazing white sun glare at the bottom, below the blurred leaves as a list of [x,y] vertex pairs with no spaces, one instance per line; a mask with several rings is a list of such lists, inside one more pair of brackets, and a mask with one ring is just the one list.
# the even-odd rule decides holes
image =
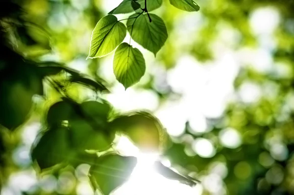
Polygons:
[[[157,173],[152,166],[158,160],[158,154],[140,153],[139,149],[136,149],[136,146],[125,137],[120,137],[117,140],[116,147],[125,155],[136,156],[138,163],[129,180],[112,195],[200,195],[202,193],[201,185],[191,188],[178,181],[166,179]],[[165,164],[170,165],[170,162],[166,160]]]

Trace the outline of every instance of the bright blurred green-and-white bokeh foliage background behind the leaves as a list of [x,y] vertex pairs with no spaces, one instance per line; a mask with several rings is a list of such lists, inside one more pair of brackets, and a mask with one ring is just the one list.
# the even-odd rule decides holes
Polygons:
[[[31,27],[38,44],[18,50],[102,77],[112,84],[105,98],[120,111],[153,111],[174,141],[167,158],[202,181],[197,193],[294,194],[293,0],[198,0],[200,11],[192,13],[165,0],[154,13],[169,38],[156,58],[144,51],[147,74],[126,91],[113,75],[113,54],[85,60],[93,28],[120,0],[21,3],[27,19],[50,35]],[[80,100],[95,96],[74,87],[72,93]],[[31,167],[42,113],[57,98],[50,89],[47,95],[46,101],[34,97],[30,119],[1,142],[1,178],[8,179],[1,195],[91,195],[82,167],[41,180]]]

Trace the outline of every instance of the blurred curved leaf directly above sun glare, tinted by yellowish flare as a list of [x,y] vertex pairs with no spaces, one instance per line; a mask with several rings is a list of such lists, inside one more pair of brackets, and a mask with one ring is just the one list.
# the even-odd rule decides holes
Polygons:
[[111,129],[126,135],[143,151],[161,151],[168,141],[160,121],[143,111],[116,117],[111,122]]

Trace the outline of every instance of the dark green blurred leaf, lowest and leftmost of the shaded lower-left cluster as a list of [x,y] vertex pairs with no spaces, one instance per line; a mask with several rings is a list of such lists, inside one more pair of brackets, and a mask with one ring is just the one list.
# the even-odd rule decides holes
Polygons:
[[66,162],[71,156],[69,130],[66,127],[52,127],[32,147],[32,160],[41,170]]

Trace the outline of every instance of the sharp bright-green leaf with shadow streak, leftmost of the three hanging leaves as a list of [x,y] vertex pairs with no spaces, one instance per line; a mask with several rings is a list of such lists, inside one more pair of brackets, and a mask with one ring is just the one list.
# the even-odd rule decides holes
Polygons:
[[92,32],[89,56],[95,58],[106,56],[112,52],[126,35],[126,28],[117,17],[107,15],[99,20]]

